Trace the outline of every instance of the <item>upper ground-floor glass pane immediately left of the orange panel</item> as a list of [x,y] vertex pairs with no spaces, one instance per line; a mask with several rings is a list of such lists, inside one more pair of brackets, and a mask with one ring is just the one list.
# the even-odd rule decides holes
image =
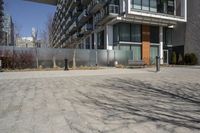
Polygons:
[[131,41],[141,42],[141,25],[131,24]]

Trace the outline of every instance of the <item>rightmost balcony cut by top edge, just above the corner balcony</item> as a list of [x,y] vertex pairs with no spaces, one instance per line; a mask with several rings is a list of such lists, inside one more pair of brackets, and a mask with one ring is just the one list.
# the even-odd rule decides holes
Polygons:
[[91,14],[96,13],[99,11],[109,0],[92,0],[88,5],[88,11]]

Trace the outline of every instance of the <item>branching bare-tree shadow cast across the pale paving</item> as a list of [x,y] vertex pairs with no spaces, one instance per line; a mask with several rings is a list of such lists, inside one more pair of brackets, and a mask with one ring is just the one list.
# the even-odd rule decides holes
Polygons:
[[[168,83],[153,85],[132,79],[109,79],[92,87],[90,93],[76,90],[76,104],[102,112],[102,122],[155,122],[157,127],[173,125],[200,130],[200,84]],[[93,116],[97,117],[97,116]],[[164,124],[159,124],[164,123]]]

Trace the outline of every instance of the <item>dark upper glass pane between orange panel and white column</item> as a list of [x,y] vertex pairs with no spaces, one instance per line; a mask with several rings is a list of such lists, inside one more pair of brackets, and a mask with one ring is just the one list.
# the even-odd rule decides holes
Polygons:
[[159,27],[158,26],[150,27],[150,42],[159,43]]

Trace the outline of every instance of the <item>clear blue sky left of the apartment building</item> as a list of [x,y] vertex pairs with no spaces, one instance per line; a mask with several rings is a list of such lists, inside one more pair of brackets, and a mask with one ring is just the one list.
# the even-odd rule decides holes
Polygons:
[[32,27],[37,28],[38,32],[44,30],[48,16],[55,12],[54,6],[24,0],[4,0],[4,3],[6,13],[20,27],[21,36],[31,36]]

